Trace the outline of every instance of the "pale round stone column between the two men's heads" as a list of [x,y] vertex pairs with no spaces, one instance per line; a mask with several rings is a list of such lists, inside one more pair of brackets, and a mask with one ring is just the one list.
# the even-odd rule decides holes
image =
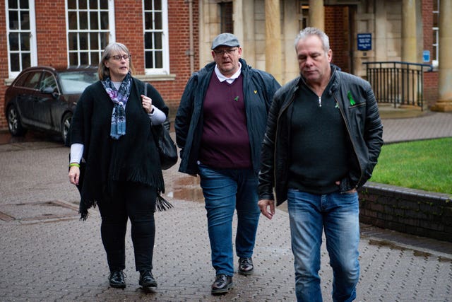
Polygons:
[[280,0],[266,0],[266,71],[282,79]]

